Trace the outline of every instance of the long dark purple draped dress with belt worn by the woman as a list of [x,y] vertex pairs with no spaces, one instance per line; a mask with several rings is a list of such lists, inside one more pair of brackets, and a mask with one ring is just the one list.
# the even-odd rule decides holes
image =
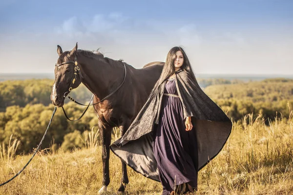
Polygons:
[[[168,79],[164,93],[178,95],[175,78]],[[168,195],[174,186],[188,183],[197,188],[197,142],[195,130],[186,131],[183,106],[180,98],[163,96],[159,124],[153,132],[153,152],[163,194]]]

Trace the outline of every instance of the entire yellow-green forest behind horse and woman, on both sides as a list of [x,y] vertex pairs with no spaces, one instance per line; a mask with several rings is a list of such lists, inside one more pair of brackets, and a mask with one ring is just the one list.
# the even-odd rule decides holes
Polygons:
[[[20,138],[22,144],[18,153],[30,152],[38,144],[54,108],[50,100],[53,82],[52,79],[0,82],[0,143],[8,144],[11,135]],[[199,78],[198,82],[204,92],[235,122],[252,112],[268,122],[276,116],[288,117],[289,109],[293,108],[293,79],[243,82]],[[71,92],[71,96],[86,103],[91,93],[81,85]],[[75,118],[84,110],[84,107],[73,102],[66,103],[64,107],[69,117]],[[82,146],[84,131],[92,128],[97,131],[98,122],[92,107],[78,122],[68,121],[62,109],[58,109],[42,147],[70,150]]]

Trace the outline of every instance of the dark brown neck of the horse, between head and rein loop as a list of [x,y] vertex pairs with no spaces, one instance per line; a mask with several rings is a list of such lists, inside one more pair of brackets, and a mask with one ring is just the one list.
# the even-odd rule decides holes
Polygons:
[[114,90],[120,84],[118,82],[124,78],[123,66],[115,67],[102,59],[79,56],[78,63],[83,84],[99,99],[111,93],[111,90]]

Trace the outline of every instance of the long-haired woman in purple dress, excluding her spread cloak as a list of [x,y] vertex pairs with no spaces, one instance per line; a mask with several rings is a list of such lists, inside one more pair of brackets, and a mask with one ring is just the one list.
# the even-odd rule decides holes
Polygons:
[[179,70],[187,70],[194,75],[184,50],[173,47],[167,54],[162,71],[161,82],[166,78],[167,82],[159,124],[153,133],[153,152],[163,185],[163,195],[170,194],[174,191],[174,186],[180,184],[183,187],[180,191],[193,192],[197,188],[197,142],[193,132],[189,132],[193,127],[191,117],[186,117],[185,122],[183,119],[183,107],[175,82],[175,72]]

